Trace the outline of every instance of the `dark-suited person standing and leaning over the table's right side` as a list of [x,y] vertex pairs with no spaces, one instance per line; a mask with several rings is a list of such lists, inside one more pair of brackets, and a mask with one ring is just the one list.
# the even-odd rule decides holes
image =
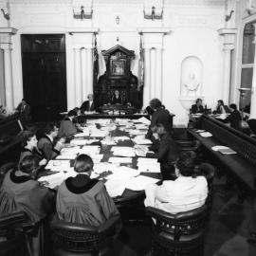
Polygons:
[[[150,139],[153,138],[152,137],[152,128],[157,123],[163,124],[166,131],[168,133],[171,133],[172,132],[172,126],[171,126],[172,117],[171,117],[169,111],[163,107],[162,102],[159,101],[158,99],[153,99],[150,101],[150,107],[154,110],[154,113],[152,115],[151,124],[150,124],[150,127],[149,127],[146,137],[150,138]],[[153,138],[153,140],[155,140],[155,139]]]

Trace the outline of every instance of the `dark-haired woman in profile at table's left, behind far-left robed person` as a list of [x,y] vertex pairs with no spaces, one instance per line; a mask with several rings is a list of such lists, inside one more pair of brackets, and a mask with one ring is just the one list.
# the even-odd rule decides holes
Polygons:
[[35,155],[40,160],[39,165],[46,165],[47,160],[37,148],[37,138],[34,133],[31,131],[25,131],[23,133],[22,147],[20,161],[27,155]]

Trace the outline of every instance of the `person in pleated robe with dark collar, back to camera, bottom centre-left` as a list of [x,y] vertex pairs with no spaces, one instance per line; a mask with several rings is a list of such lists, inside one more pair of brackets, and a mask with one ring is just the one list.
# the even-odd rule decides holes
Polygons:
[[108,218],[119,214],[104,184],[91,179],[93,161],[89,155],[79,155],[75,160],[76,177],[67,178],[57,192],[56,209],[60,220],[99,226]]

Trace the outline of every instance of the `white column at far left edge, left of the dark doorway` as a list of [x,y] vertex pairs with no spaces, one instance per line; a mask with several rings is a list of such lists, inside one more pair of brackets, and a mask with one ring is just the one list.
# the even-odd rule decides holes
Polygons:
[[6,87],[6,108],[12,111],[13,105],[13,85],[12,85],[12,67],[11,67],[11,46],[10,44],[2,44],[4,50],[4,66],[5,66],[5,87]]

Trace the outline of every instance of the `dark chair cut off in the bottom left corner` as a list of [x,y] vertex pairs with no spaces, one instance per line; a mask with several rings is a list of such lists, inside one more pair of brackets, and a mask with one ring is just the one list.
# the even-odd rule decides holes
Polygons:
[[0,217],[0,255],[27,255],[26,239],[22,225],[27,221],[24,212]]

